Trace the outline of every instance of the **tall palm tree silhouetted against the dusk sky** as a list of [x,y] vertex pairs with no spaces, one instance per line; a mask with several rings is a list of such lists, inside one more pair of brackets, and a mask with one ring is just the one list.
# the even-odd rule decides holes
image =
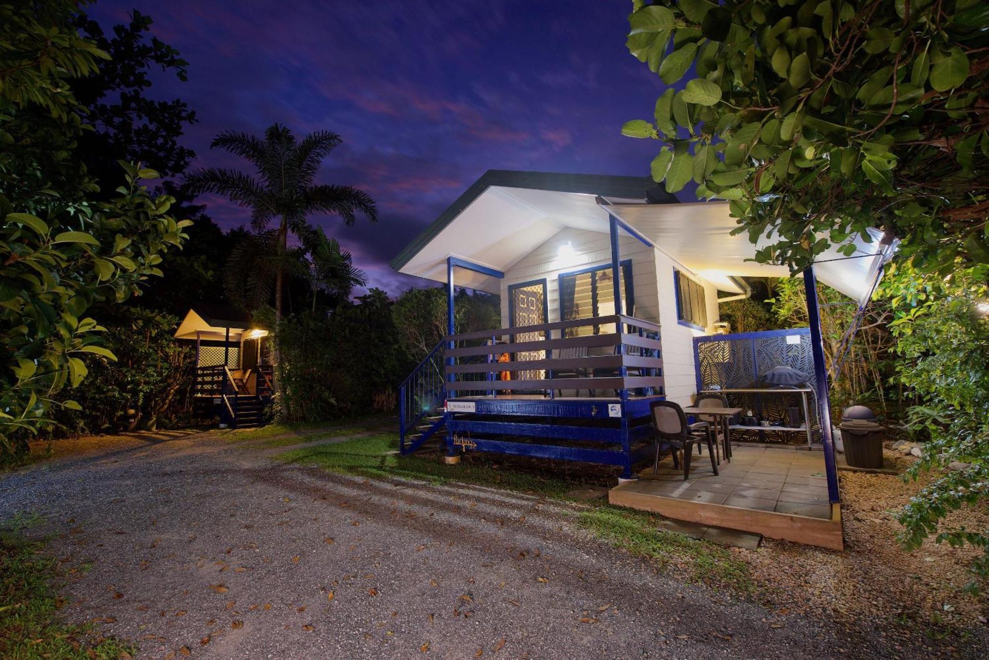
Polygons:
[[[274,275],[276,324],[282,318],[285,276],[290,274],[292,264],[298,263],[288,247],[289,233],[300,239],[312,235],[315,228],[307,218],[319,213],[335,213],[348,226],[356,221],[357,213],[372,221],[378,219],[378,207],[367,193],[352,186],[314,183],[323,158],[340,141],[340,136],[329,130],[317,130],[296,141],[292,131],[281,124],[272,124],[265,130],[264,139],[227,130],[217,135],[210,146],[247,159],[257,170],[257,178],[211,167],[192,172],[183,180],[195,195],[216,193],[251,209],[251,226],[256,232],[252,247],[268,250],[265,268]],[[272,220],[277,220],[277,225]],[[251,246],[244,245],[243,249]],[[263,294],[263,275],[258,273],[252,276],[253,283],[245,284]]]

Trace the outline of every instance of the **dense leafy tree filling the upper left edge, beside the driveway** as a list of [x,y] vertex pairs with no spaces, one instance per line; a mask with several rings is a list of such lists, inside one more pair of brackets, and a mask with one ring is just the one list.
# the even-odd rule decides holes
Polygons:
[[86,375],[84,355],[114,359],[87,310],[138,293],[186,238],[172,198],[140,185],[157,172],[121,163],[125,185],[95,201],[72,155],[85,113],[70,83],[108,57],[77,33],[78,11],[70,0],[0,5],[0,454],[52,423],[59,390]]

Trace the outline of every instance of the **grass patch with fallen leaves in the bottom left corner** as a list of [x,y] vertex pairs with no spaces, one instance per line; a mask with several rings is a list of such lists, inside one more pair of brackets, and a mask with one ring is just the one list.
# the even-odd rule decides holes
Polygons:
[[51,580],[59,571],[44,545],[19,530],[0,531],[0,657],[133,657],[133,646],[104,637],[92,623],[73,625],[58,619],[64,603]]

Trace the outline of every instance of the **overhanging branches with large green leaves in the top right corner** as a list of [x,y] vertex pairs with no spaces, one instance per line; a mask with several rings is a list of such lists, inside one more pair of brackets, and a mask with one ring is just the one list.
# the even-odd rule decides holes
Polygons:
[[[943,275],[989,261],[989,33],[979,0],[633,2],[628,48],[667,89],[623,132],[668,191],[731,201],[794,270],[879,226]],[[690,75],[688,75],[690,74]],[[685,84],[681,79],[687,76]],[[851,245],[847,248],[851,254]]]

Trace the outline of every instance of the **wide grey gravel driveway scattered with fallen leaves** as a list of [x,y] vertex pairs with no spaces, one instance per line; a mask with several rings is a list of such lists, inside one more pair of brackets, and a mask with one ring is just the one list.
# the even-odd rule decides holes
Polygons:
[[576,531],[571,505],[279,465],[267,456],[285,448],[210,434],[102,448],[0,476],[0,520],[45,516],[30,534],[54,535],[66,566],[89,564],[66,587],[65,616],[105,620],[140,657],[892,651],[879,635],[685,586]]

